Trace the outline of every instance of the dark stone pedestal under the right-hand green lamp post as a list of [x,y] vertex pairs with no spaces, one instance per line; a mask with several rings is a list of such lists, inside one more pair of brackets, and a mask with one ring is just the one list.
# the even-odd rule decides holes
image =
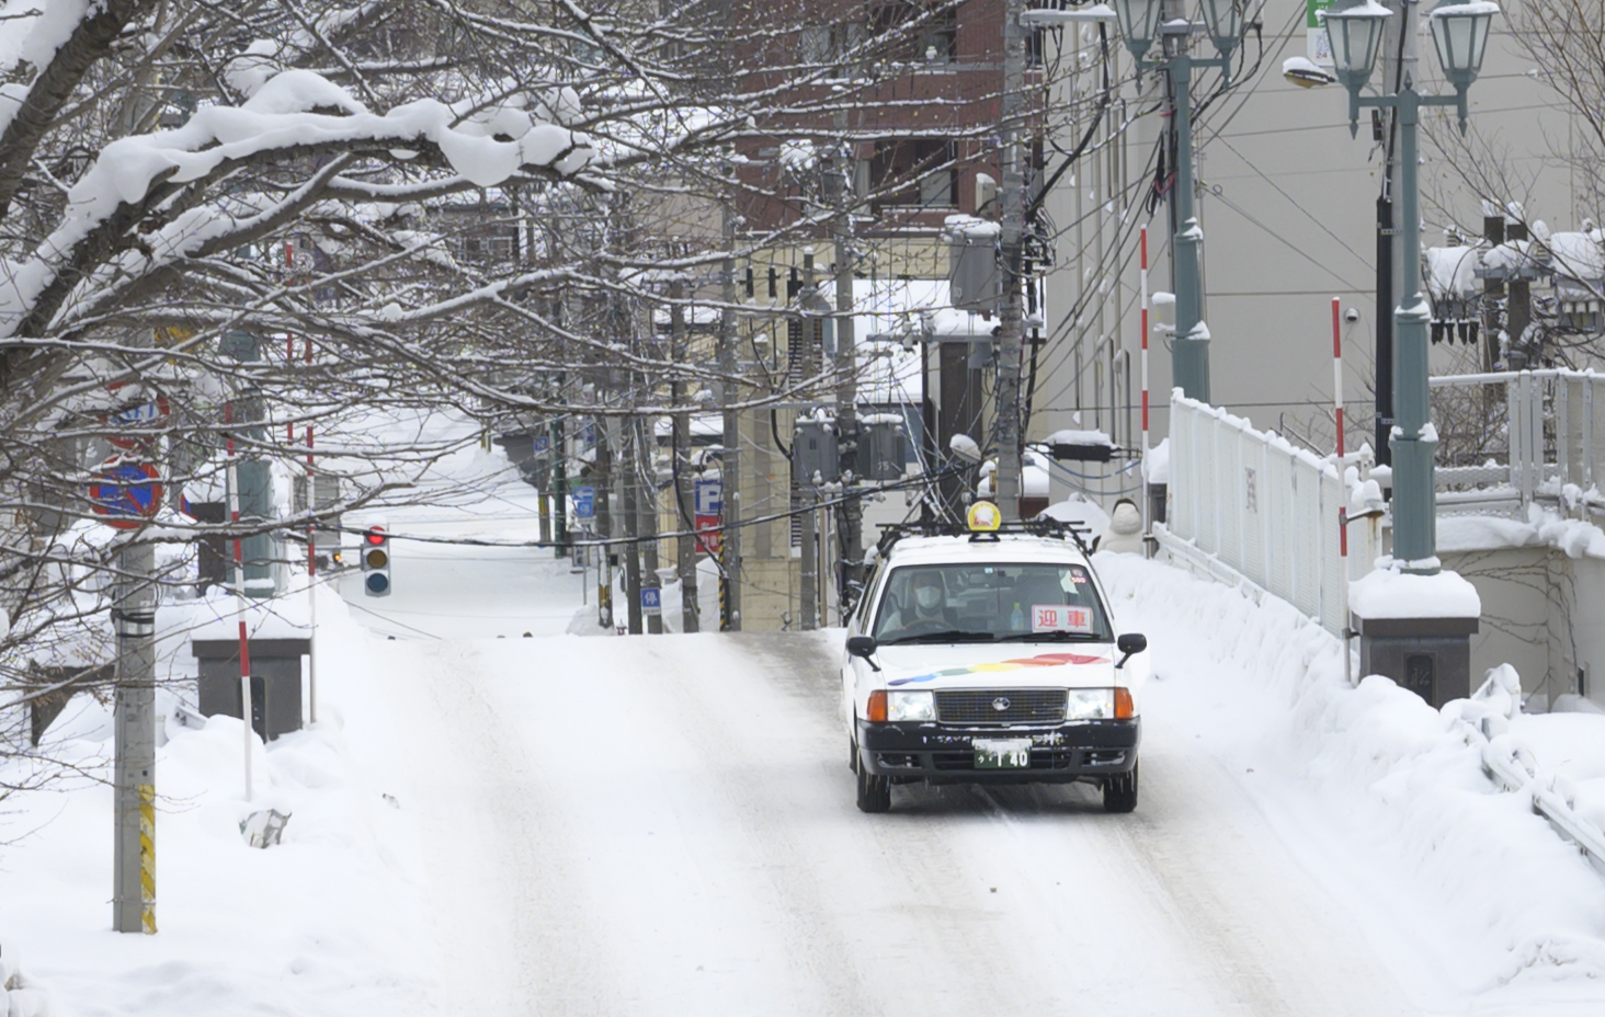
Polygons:
[[1475,618],[1358,618],[1359,674],[1393,679],[1433,709],[1472,695]]

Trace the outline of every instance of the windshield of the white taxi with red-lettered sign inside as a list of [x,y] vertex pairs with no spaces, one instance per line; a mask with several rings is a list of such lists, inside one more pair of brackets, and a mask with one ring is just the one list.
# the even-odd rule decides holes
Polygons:
[[886,577],[872,635],[881,645],[1109,642],[1082,565],[908,565]]

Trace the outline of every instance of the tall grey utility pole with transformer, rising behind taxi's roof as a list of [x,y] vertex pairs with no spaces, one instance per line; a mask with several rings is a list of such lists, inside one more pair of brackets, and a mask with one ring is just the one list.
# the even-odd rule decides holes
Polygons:
[[[1019,136],[1024,115],[1026,27],[1019,22],[1026,0],[1008,0],[1003,13],[1003,184],[998,189],[1002,245],[998,258],[1003,295],[998,302],[998,380],[997,380],[997,473],[993,497],[1005,520],[1019,518],[1021,496],[1021,391],[1024,361],[1019,269],[1024,260],[1026,173],[1021,165]],[[945,452],[945,449],[942,449]]]

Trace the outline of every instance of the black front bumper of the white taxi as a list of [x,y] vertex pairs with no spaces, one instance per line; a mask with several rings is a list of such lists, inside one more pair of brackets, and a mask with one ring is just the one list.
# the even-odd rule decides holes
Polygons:
[[[958,727],[857,722],[859,765],[902,784],[1072,783],[1130,773],[1141,717],[1054,725]],[[1029,765],[977,768],[976,739],[1030,739]]]

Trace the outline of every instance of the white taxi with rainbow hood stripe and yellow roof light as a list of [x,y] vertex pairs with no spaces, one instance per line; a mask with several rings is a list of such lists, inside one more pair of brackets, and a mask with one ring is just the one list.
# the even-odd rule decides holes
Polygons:
[[[1071,783],[1136,808],[1148,640],[1119,632],[1080,536],[1051,520],[892,528],[849,619],[859,808],[905,783]],[[1143,654],[1143,656],[1136,656]]]

